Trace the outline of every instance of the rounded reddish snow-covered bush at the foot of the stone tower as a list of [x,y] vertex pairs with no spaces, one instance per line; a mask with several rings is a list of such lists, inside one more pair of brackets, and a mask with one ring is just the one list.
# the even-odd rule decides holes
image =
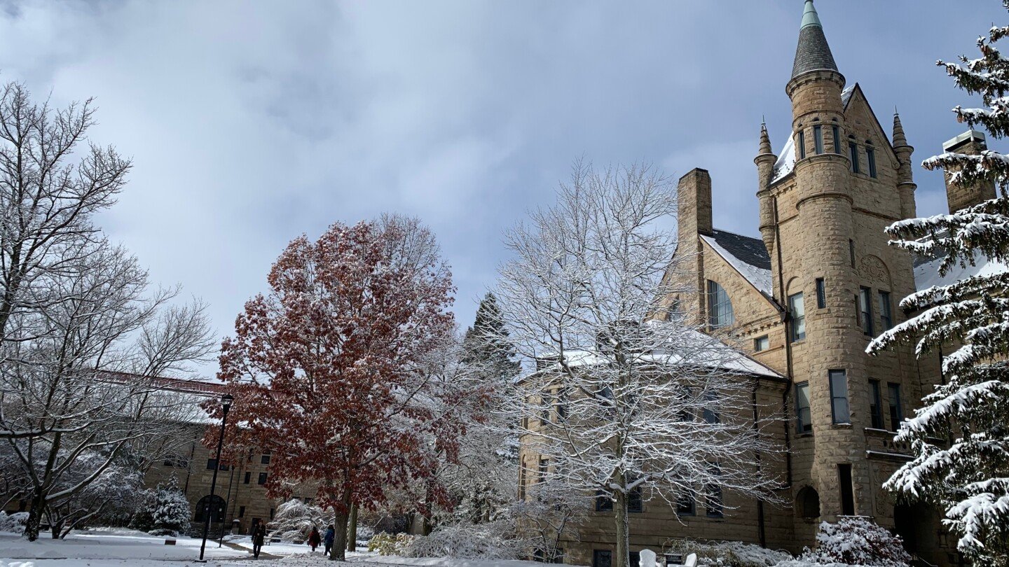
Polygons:
[[820,524],[816,549],[802,559],[819,564],[848,563],[873,567],[907,567],[911,556],[900,536],[894,536],[873,521],[861,517],[842,518],[836,524]]

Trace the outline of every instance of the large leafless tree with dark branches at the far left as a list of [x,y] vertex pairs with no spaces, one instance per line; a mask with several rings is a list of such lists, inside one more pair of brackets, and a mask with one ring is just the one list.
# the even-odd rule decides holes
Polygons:
[[29,540],[50,506],[191,418],[192,400],[156,378],[212,347],[203,305],[150,293],[94,226],[129,161],[88,142],[93,116],[91,101],[52,110],[18,84],[0,95],[0,442]]

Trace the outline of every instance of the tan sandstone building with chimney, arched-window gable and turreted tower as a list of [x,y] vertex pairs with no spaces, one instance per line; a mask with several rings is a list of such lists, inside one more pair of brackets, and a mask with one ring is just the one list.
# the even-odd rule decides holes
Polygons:
[[[866,516],[902,535],[929,564],[959,564],[956,540],[934,511],[897,501],[881,487],[910,458],[894,432],[939,383],[937,361],[919,362],[910,346],[865,352],[873,337],[907,319],[898,303],[916,289],[913,258],[889,246],[884,233],[916,216],[913,148],[900,118],[886,131],[859,85],[842,75],[812,0],[785,92],[791,136],[775,153],[763,127],[755,158],[761,238],[714,228],[708,173],[683,176],[677,254],[691,266],[667,277],[687,278],[694,293],[665,304],[711,329],[731,328],[726,340],[768,369],[751,378],[761,405],[777,405],[788,418],[776,435],[783,458],[768,467],[783,479],[791,504],[731,493],[713,511],[700,498],[675,508],[645,500],[630,515],[632,553],[658,551],[675,538],[798,552],[813,544],[820,522]],[[983,135],[968,132],[944,149],[983,144]],[[947,188],[951,210],[989,194],[993,188]],[[918,287],[930,286],[928,260],[917,263]],[[537,455],[527,446],[522,459],[533,471],[523,478],[535,481]],[[578,541],[563,543],[565,563],[608,567],[612,524],[611,512],[593,513]]]

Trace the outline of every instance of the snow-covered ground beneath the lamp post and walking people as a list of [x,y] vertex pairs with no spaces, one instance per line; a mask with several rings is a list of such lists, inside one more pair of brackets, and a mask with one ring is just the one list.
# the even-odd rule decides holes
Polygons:
[[[72,533],[66,540],[51,540],[43,535],[28,542],[18,534],[0,532],[0,567],[167,567],[200,565],[200,540],[178,538],[176,545],[164,545],[165,538],[155,538],[130,530],[94,530]],[[252,559],[249,538],[227,540],[221,548],[207,542],[207,565],[240,567]],[[311,553],[307,545],[273,543],[262,548],[271,557],[260,556],[256,565],[296,567],[329,565],[319,548]],[[536,567],[531,561],[473,561],[466,559],[404,558],[379,556],[369,552],[348,553],[351,563],[401,565],[411,567]]]

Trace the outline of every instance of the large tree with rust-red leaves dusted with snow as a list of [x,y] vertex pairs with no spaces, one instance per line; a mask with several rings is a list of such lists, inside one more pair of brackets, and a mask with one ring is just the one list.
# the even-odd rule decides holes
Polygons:
[[451,273],[427,228],[385,216],[294,240],[267,279],[222,345],[228,444],[232,458],[272,451],[271,496],[318,484],[337,521],[330,558],[344,559],[352,506],[373,509],[417,482],[444,499],[432,471],[458,453],[452,409],[470,395],[427,371],[452,340]]

